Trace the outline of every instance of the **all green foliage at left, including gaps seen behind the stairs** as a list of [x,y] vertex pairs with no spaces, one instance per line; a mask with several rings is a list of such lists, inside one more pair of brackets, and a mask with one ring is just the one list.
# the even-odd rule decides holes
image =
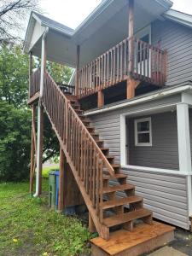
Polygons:
[[[38,61],[35,61],[38,67]],[[48,62],[55,81],[67,83],[72,69]],[[28,177],[31,148],[31,111],[28,97],[28,55],[20,45],[0,48],[0,180]],[[44,160],[59,154],[55,132],[44,115]]]

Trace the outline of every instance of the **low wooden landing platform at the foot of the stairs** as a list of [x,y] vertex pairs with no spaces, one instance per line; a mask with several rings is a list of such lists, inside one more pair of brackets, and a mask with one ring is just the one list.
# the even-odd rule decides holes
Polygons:
[[92,244],[92,256],[137,256],[149,253],[174,239],[175,228],[159,222],[152,225],[137,224],[133,232],[118,230],[110,234],[108,241],[96,237]]

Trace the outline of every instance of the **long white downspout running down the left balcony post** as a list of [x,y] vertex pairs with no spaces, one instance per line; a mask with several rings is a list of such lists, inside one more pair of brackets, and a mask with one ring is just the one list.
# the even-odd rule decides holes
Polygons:
[[42,37],[42,48],[41,48],[41,76],[40,76],[40,96],[38,101],[38,140],[37,140],[37,172],[36,172],[36,192],[33,195],[37,197],[40,193],[39,191],[39,175],[42,170],[42,153],[41,153],[41,131],[42,131],[42,102],[41,98],[44,92],[44,70],[46,69],[46,53],[45,53],[45,38],[49,32],[49,27],[46,27],[43,37]]

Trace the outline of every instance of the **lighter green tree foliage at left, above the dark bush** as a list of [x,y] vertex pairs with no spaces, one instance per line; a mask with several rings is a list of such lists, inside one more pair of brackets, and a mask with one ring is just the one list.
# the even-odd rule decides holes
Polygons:
[[0,49],[0,99],[15,108],[25,107],[28,95],[28,56],[20,45]]

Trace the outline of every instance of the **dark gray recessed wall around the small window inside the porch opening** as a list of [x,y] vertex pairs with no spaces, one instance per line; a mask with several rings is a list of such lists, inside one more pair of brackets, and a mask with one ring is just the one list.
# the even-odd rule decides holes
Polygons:
[[151,117],[152,146],[135,146],[134,120],[127,120],[128,134],[128,164],[131,166],[147,166],[163,169],[178,170],[178,145],[177,145],[177,113],[166,112]]

